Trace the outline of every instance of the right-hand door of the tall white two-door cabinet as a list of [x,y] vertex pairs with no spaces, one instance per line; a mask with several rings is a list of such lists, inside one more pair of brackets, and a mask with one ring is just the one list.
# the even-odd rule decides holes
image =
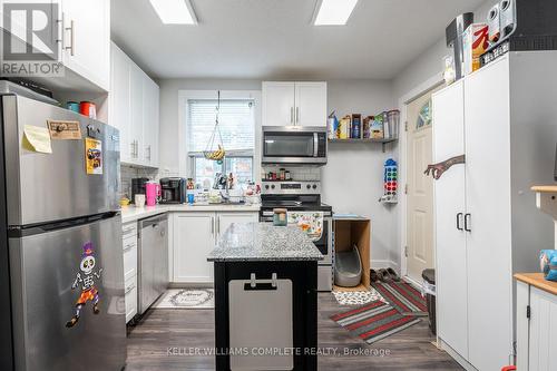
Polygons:
[[509,364],[512,351],[509,62],[465,84],[469,360]]

